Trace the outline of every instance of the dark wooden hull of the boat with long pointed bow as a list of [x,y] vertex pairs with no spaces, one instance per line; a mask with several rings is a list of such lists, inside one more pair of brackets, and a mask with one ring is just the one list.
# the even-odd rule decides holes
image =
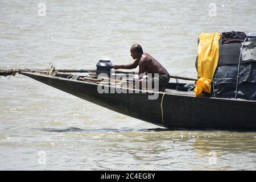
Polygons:
[[[134,93],[135,89],[130,88],[126,88],[127,93],[100,94],[97,81],[73,80],[69,78],[72,77],[70,74],[20,74],[118,113],[168,129],[256,131],[256,101],[195,97],[193,90],[177,91],[176,86],[185,85],[177,82],[169,83],[164,92],[158,92],[156,100],[148,100],[151,92]],[[104,85],[108,89],[114,87]]]

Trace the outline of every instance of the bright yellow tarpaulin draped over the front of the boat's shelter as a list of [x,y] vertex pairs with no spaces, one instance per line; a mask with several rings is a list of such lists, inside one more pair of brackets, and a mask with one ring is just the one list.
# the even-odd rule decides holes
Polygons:
[[218,65],[219,46],[221,34],[201,33],[197,47],[198,53],[198,80],[196,81],[196,97],[203,96],[203,91],[210,93],[212,78]]

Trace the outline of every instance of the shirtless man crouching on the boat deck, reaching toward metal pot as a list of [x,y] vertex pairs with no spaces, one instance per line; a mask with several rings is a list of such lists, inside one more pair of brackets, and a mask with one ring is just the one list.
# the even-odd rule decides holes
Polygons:
[[[154,57],[150,56],[148,53],[143,52],[142,47],[139,44],[134,44],[130,49],[131,57],[135,60],[134,63],[130,63],[127,65],[114,65],[114,69],[134,69],[139,65],[139,81],[140,83],[144,81],[143,73],[158,73],[158,76],[152,77],[150,81],[152,81],[152,86],[154,86],[154,82],[159,82],[159,91],[163,91],[165,86],[168,84],[170,80],[170,75],[167,70],[160,64],[158,61],[154,59]],[[140,84],[141,85],[141,84]]]

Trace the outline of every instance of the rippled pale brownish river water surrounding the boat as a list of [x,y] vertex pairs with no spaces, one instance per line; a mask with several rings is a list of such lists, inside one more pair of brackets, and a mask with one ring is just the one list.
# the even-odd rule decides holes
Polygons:
[[[131,63],[139,43],[171,75],[196,77],[200,32],[255,32],[255,17],[255,1],[1,0],[0,68]],[[2,170],[256,169],[256,133],[167,131],[22,75],[0,90]]]

